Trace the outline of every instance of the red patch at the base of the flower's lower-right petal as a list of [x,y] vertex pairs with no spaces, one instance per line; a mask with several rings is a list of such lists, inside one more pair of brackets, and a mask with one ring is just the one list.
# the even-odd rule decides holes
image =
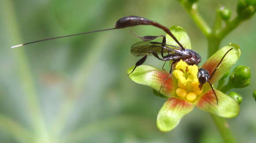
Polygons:
[[197,103],[197,106],[204,107],[207,104],[215,105],[216,104],[216,98],[212,90],[209,90],[207,93],[205,93],[201,98],[200,101]]

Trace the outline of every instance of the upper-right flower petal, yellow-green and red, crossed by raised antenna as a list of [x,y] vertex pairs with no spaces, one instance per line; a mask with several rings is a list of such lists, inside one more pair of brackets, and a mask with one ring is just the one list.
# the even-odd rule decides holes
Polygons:
[[[231,50],[228,54],[226,52]],[[226,54],[223,61],[219,65],[218,69],[214,73],[214,75],[209,80],[212,84],[217,82],[222,76],[236,63],[239,59],[241,51],[240,47],[237,44],[230,43],[227,46],[224,46],[222,49],[218,50],[215,54],[213,54],[202,66],[209,71],[210,75],[214,72],[218,63],[221,61],[222,57]]]

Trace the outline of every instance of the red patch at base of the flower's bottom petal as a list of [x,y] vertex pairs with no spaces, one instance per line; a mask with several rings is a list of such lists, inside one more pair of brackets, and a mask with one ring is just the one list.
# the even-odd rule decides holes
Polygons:
[[170,104],[170,107],[169,107],[170,110],[175,109],[175,108],[183,109],[183,108],[192,106],[192,104],[187,102],[186,100],[182,100],[182,99],[175,98],[175,97],[170,97],[167,101]]

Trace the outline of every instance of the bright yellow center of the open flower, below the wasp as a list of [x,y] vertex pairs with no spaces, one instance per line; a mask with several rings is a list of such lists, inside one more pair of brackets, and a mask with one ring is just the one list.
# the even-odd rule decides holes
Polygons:
[[176,89],[176,95],[178,97],[193,102],[198,95],[203,93],[203,89],[199,88],[200,83],[197,73],[197,65],[188,65],[182,60],[176,64],[173,75],[178,80],[179,88]]

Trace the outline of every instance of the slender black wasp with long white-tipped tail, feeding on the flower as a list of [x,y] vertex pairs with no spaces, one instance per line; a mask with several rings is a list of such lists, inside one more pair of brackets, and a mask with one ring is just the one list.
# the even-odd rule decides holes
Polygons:
[[[38,40],[38,41],[34,41],[34,42],[23,43],[20,45],[12,46],[11,48],[24,46],[24,45],[28,45],[31,43],[37,43],[37,42],[41,42],[41,41],[51,40],[51,39],[59,39],[59,38],[64,38],[64,37],[77,36],[77,35],[89,34],[89,33],[94,33],[94,32],[102,32],[102,31],[114,30],[114,29],[123,29],[123,28],[132,27],[132,26],[136,26],[136,25],[152,25],[159,29],[162,29],[169,36],[171,36],[173,38],[173,40],[179,45],[179,47],[166,44],[165,36],[162,36],[163,37],[162,43],[158,43],[158,42],[135,43],[134,45],[132,45],[131,53],[135,56],[143,56],[143,57],[139,61],[136,62],[136,66],[132,70],[132,72],[136,69],[137,66],[143,64],[144,61],[146,60],[147,56],[150,54],[153,54],[154,57],[158,58],[161,61],[173,61],[171,64],[170,71],[169,71],[170,74],[172,72],[172,65],[175,64],[177,61],[180,61],[181,59],[190,65],[192,65],[192,64],[198,65],[201,62],[201,56],[199,54],[197,54],[194,50],[184,48],[181,45],[181,43],[177,40],[177,38],[173,35],[173,33],[166,26],[163,26],[156,21],[151,21],[149,19],[141,18],[141,17],[137,17],[137,16],[128,16],[128,17],[120,18],[114,25],[115,28],[83,32],[83,33],[78,33],[78,34],[73,34],[73,35],[68,35],[68,36],[54,37],[54,38],[49,38],[49,39],[42,39],[42,40]],[[141,38],[143,41],[151,41],[160,36],[143,36],[143,37],[138,36],[138,37]],[[232,50],[232,49],[230,49],[230,50]],[[162,58],[158,56],[159,53],[161,53]],[[164,53],[167,53],[167,55],[164,55]],[[226,56],[226,54],[222,57],[222,60]],[[219,62],[219,64],[222,62],[222,60]],[[219,64],[218,64],[218,66],[219,66]],[[217,70],[218,66],[215,68],[215,71]],[[215,71],[213,72],[213,74],[215,73]],[[198,79],[200,82],[200,88],[202,88],[202,86],[205,82],[210,83],[211,88],[215,94],[215,97],[216,97],[217,103],[218,103],[218,98],[216,96],[216,93],[212,87],[211,82],[209,81],[209,79],[211,79],[212,75],[209,77],[209,72],[206,69],[200,68],[199,72],[198,72]],[[160,88],[160,90],[161,90],[161,88]]]

